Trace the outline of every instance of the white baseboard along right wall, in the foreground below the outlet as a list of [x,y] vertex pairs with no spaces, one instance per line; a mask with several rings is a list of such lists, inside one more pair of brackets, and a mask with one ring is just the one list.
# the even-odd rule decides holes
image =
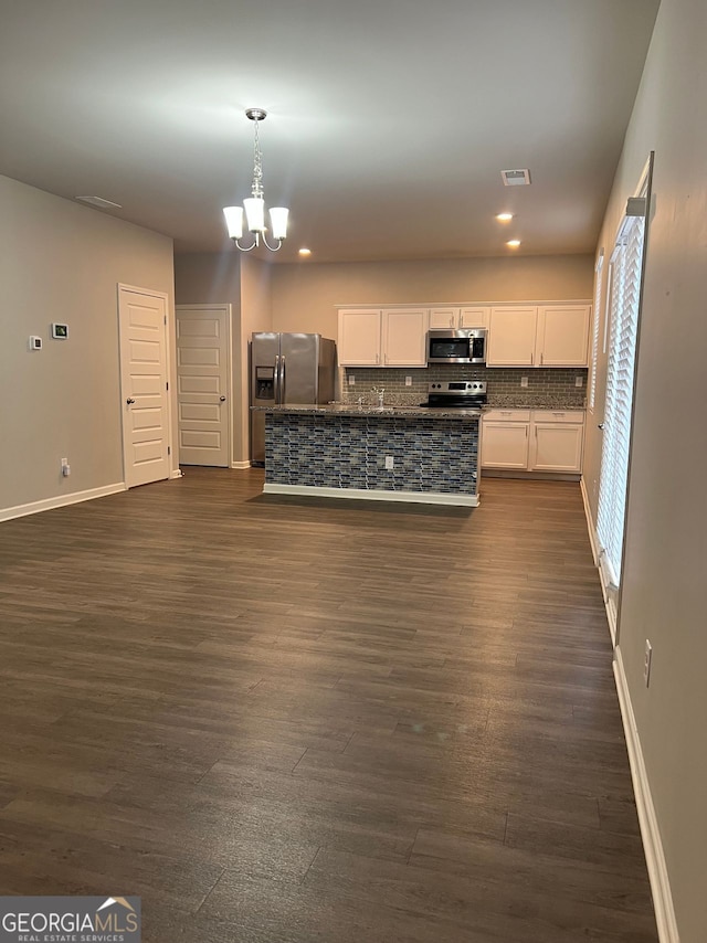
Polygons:
[[651,891],[653,892],[653,907],[655,909],[658,939],[661,943],[679,943],[671,882],[667,876],[665,855],[663,854],[661,830],[643,761],[643,751],[631,703],[631,695],[629,693],[629,684],[623,667],[621,647],[616,648],[614,653],[614,677],[616,680],[616,691],[619,692],[623,730],[629,749],[633,792],[639,810],[639,825],[641,826],[641,837],[643,838],[645,860],[648,868],[648,880],[651,881]]

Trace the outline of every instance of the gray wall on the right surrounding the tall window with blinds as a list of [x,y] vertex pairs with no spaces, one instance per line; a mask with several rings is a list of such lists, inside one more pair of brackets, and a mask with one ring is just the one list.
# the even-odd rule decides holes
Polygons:
[[[704,0],[663,0],[600,239],[609,257],[655,150],[619,645],[682,943],[707,934],[706,38]],[[604,374],[602,362],[598,418]],[[593,510],[599,463],[594,422]]]

